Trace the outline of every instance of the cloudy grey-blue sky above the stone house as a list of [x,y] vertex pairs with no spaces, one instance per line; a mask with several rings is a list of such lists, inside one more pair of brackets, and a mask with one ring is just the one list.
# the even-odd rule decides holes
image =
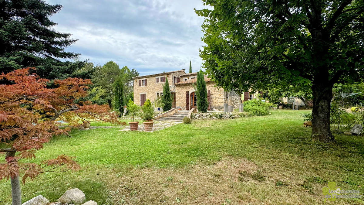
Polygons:
[[51,16],[60,32],[79,39],[67,51],[103,65],[115,61],[141,75],[200,68],[201,0],[47,0],[62,4]]

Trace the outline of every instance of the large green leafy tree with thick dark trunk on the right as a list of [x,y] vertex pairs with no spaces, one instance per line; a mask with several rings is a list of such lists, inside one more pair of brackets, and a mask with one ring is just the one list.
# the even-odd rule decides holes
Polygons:
[[201,50],[218,86],[238,93],[312,85],[312,137],[331,142],[336,82],[363,76],[363,0],[203,0]]

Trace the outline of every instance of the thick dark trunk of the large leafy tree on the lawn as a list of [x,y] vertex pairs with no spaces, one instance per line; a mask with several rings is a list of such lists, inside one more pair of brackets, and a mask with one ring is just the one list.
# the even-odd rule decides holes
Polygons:
[[332,85],[314,84],[312,86],[312,138],[320,142],[333,142],[334,136],[330,130],[330,108]]

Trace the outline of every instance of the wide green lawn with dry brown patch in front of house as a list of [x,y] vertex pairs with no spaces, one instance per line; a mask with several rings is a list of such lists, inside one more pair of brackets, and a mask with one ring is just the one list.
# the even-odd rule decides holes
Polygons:
[[[45,144],[36,160],[67,154],[82,170],[28,181],[23,202],[39,194],[56,201],[75,187],[98,204],[324,204],[322,187],[330,181],[363,193],[363,136],[313,142],[300,116],[308,112],[195,120],[151,133],[73,130],[72,138]],[[10,204],[9,181],[0,189],[0,204]],[[364,201],[336,201],[353,203]]]

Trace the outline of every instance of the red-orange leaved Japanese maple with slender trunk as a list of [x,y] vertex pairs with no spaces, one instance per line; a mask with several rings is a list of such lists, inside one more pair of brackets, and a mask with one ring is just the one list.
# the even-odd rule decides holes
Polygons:
[[35,158],[35,152],[43,148],[53,135],[67,134],[69,129],[59,129],[56,119],[73,126],[79,125],[80,119],[118,123],[116,116],[109,113],[108,105],[80,101],[87,96],[90,80],[55,80],[56,88],[50,89],[47,88],[49,81],[32,74],[32,69],[0,75],[0,80],[10,82],[0,85],[0,153],[5,153],[5,161],[0,163],[0,180],[11,179],[13,204],[21,204],[20,175],[23,175],[24,184],[27,178],[34,179],[46,171],[80,168],[72,157],[66,155],[40,164],[19,162]]

